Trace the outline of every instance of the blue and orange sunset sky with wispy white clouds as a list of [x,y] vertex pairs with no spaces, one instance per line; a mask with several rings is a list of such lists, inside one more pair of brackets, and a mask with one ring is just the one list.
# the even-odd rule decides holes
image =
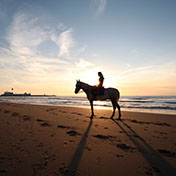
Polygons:
[[[0,94],[176,95],[175,0],[1,0]],[[83,94],[79,94],[83,96]]]

